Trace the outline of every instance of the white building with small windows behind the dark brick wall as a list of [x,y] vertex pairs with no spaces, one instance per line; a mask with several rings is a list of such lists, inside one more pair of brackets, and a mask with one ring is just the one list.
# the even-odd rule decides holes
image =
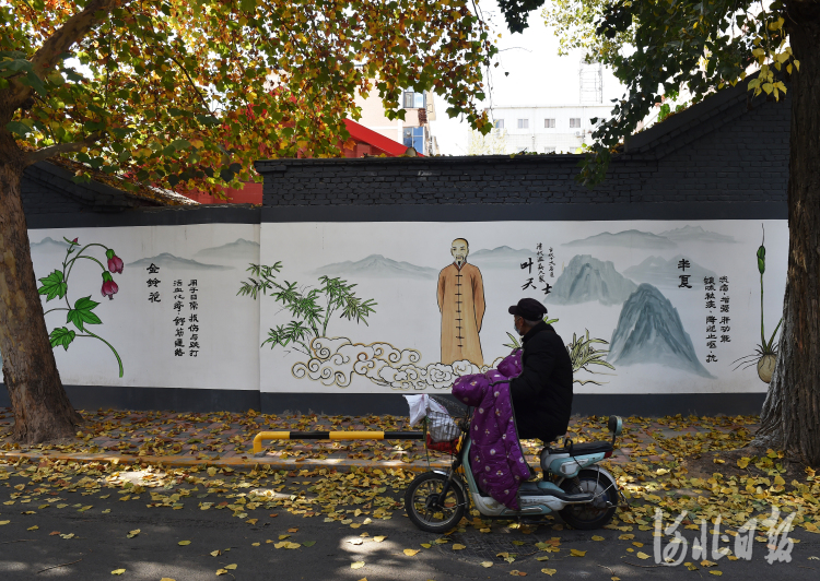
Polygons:
[[[611,105],[542,105],[493,107],[488,110],[493,124],[506,131],[506,153],[575,153]],[[598,122],[593,122],[598,118]]]

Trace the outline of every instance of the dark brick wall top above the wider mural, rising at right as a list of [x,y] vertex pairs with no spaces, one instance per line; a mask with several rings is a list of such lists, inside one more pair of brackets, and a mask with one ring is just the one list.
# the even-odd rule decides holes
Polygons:
[[386,204],[785,202],[790,103],[718,93],[628,142],[594,189],[579,155],[256,163],[263,208]]

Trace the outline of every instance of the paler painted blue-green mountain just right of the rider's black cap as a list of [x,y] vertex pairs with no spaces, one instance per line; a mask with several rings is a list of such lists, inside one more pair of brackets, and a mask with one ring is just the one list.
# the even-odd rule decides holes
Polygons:
[[577,254],[555,280],[546,303],[577,305],[597,300],[601,305],[620,305],[636,289],[637,285],[619,273],[612,262]]

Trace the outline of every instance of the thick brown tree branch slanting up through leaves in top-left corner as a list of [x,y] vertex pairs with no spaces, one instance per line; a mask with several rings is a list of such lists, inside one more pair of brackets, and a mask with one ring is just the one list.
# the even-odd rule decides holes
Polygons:
[[[45,73],[54,68],[60,55],[69,50],[71,46],[81,40],[89,32],[110,12],[115,7],[128,3],[130,0],[91,0],[85,10],[69,17],[43,46],[30,59],[33,64],[34,74],[43,79]],[[99,14],[99,13],[103,14]],[[31,96],[31,86],[24,85],[20,80],[12,81],[11,91],[7,103],[12,109],[19,108]]]

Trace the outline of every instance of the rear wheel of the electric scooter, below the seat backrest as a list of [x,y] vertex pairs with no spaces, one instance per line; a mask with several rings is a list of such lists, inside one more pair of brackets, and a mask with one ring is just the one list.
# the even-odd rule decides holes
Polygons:
[[581,531],[600,529],[609,524],[618,510],[618,490],[608,477],[596,470],[582,470],[575,478],[561,483],[569,494],[591,494],[595,499],[584,505],[567,505],[559,514],[566,524]]

